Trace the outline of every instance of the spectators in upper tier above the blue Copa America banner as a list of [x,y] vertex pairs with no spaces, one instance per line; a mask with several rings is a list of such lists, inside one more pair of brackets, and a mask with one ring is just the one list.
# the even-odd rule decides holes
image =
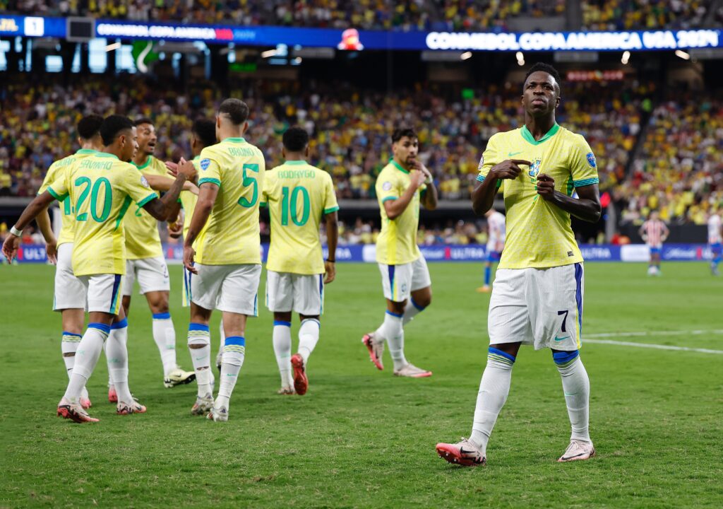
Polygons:
[[[505,30],[513,17],[564,16],[576,0],[0,0],[0,10],[47,16],[366,30]],[[711,0],[582,0],[586,30],[695,28]]]

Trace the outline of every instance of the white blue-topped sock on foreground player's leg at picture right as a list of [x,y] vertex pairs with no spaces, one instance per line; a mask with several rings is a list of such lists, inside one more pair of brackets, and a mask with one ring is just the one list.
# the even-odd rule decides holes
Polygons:
[[[564,355],[559,355],[564,354]],[[565,404],[568,406],[570,439],[591,442],[589,433],[590,379],[588,378],[580,354],[575,352],[555,352],[552,354],[557,371],[562,377],[562,391],[565,392]]]

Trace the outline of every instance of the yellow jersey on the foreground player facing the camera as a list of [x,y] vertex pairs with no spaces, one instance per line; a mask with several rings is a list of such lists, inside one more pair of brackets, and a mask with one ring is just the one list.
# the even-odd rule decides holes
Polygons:
[[489,138],[477,180],[484,181],[489,169],[505,159],[524,159],[531,165],[522,167],[516,179],[502,181],[507,238],[500,269],[544,269],[583,261],[570,214],[537,194],[536,178],[548,174],[555,190],[570,196],[575,188],[597,184],[597,163],[585,138],[557,124],[540,140],[526,126],[498,132]]

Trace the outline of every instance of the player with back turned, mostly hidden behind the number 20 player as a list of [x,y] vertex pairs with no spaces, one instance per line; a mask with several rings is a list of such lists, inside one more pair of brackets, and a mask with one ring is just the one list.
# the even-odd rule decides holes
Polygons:
[[[88,115],[82,117],[77,125],[78,144],[80,150],[72,154],[72,156],[64,157],[59,161],[55,161],[48,168],[43,185],[40,186],[38,194],[43,194],[48,189],[48,185],[56,180],[59,174],[65,172],[75,161],[85,159],[92,155],[95,151],[103,148],[103,140],[100,139],[100,125],[103,123],[103,117],[100,115]],[[56,241],[52,241],[46,237],[48,245],[56,245],[56,269],[55,269],[55,297],[53,300],[53,310],[60,311],[61,322],[63,327],[63,335],[61,340],[61,354],[65,363],[65,369],[68,377],[73,372],[73,364],[75,363],[75,352],[78,343],[82,337],[83,325],[85,324],[85,287],[80,279],[73,274],[72,253],[73,253],[73,237],[75,227],[75,214],[72,203],[69,198],[65,198],[60,202],[61,205],[61,221],[62,227],[60,235]],[[36,218],[43,230],[43,235],[49,231],[50,218],[48,212],[42,211]],[[46,223],[43,226],[41,223]],[[87,390],[83,387],[80,395],[80,405],[82,408],[90,408],[90,399]]]

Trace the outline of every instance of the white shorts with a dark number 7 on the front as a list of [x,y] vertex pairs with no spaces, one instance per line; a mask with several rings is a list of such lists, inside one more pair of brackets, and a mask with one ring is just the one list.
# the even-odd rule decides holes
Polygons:
[[489,344],[522,342],[535,350],[581,348],[583,264],[497,269],[489,300]]

